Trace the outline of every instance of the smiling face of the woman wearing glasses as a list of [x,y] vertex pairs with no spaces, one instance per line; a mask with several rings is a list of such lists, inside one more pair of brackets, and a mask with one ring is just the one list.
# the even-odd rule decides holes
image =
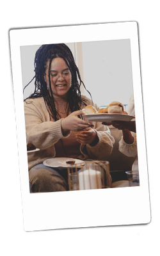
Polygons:
[[[49,88],[48,69],[49,61],[47,63],[44,77],[45,82],[47,83],[47,86]],[[71,74],[69,68],[67,67],[65,61],[62,58],[58,57],[52,60],[50,78],[53,97],[66,96],[71,84]]]

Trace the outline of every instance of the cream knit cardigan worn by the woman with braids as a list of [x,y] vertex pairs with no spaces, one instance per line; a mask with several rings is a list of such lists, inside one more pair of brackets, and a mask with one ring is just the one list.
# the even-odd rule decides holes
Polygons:
[[[86,104],[92,105],[92,100],[82,96],[88,101]],[[39,163],[43,163],[45,159],[55,157],[56,151],[54,144],[64,137],[61,132],[61,120],[56,122],[50,121],[50,116],[45,106],[44,98],[28,99],[24,102],[24,113],[26,122],[26,140],[27,144],[32,143],[36,148],[40,148],[40,151],[33,152],[28,156],[28,168],[31,169],[33,166]],[[93,104],[97,110],[99,107],[97,104]],[[85,108],[82,104],[81,109]],[[114,138],[111,136],[109,128],[102,125],[101,122],[92,122],[94,129],[97,131],[99,142],[94,147],[90,145],[81,145],[80,151],[83,154],[84,159],[99,159],[107,160],[112,152],[113,144],[115,143]]]

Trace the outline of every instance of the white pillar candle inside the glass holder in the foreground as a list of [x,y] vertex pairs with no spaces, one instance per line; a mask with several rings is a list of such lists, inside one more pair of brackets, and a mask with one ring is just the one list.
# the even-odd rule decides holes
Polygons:
[[102,188],[100,174],[92,169],[79,172],[79,190]]

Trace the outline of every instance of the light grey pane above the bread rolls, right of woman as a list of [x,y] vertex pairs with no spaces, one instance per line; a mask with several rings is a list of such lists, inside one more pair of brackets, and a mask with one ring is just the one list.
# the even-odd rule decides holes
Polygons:
[[129,39],[83,42],[84,84],[99,105],[128,104],[133,93]]

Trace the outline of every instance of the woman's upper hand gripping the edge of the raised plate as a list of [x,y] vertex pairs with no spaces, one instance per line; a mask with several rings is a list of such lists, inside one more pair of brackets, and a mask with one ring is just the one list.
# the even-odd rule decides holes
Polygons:
[[82,131],[85,128],[93,127],[93,125],[88,122],[78,118],[78,115],[83,114],[81,110],[74,111],[66,118],[61,120],[61,131],[63,136],[68,133],[68,131]]

